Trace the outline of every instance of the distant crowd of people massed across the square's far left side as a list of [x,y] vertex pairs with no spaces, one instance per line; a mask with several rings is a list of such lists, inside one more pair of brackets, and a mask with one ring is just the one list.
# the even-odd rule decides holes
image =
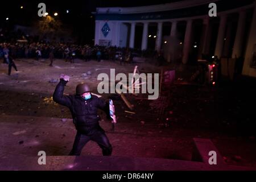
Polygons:
[[[11,68],[17,70],[15,59],[49,59],[49,66],[53,66],[53,60],[63,59],[75,63],[75,59],[90,60],[112,60],[120,64],[133,63],[134,57],[159,58],[155,50],[143,50],[121,48],[116,46],[89,46],[78,45],[73,42],[48,42],[36,40],[36,36],[27,36],[22,31],[7,31],[0,28],[0,59],[9,64],[9,75]],[[161,63],[162,61],[159,61]]]

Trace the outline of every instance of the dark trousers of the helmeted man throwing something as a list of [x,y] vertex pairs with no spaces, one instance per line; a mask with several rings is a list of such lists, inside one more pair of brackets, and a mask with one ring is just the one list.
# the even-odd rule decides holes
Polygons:
[[80,155],[82,148],[89,140],[96,142],[101,147],[103,155],[110,156],[112,154],[112,146],[104,131],[95,131],[93,135],[85,135],[77,131],[75,142],[69,155]]

